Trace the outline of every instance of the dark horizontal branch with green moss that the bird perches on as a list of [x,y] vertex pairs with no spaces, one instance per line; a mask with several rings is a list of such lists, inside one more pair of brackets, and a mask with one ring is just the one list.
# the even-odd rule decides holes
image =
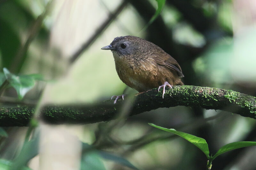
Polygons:
[[[211,87],[192,85],[167,88],[162,98],[162,90],[151,89],[136,94],[132,98],[129,115],[136,115],[159,107],[190,106],[205,109],[220,109],[256,119],[256,97]],[[126,99],[128,100],[128,99]],[[45,106],[41,118],[49,123],[94,123],[115,119],[121,112],[125,100],[105,100],[94,105]],[[34,107],[0,108],[0,126],[27,126],[35,111]]]

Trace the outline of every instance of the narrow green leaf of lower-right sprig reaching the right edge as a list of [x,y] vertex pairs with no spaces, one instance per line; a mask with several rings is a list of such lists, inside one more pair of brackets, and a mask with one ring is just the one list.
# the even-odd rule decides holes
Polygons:
[[212,160],[215,159],[217,156],[219,156],[222,153],[232,151],[232,150],[238,149],[238,148],[243,148],[243,147],[247,147],[247,146],[255,146],[255,145],[256,145],[256,142],[251,142],[251,141],[241,141],[241,142],[233,142],[230,144],[226,144],[226,145],[222,146],[215,155],[213,155]]

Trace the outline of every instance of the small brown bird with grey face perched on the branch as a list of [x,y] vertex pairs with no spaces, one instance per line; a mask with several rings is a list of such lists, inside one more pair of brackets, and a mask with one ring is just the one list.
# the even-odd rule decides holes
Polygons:
[[[115,59],[119,78],[138,92],[165,86],[184,85],[180,80],[184,77],[180,65],[171,55],[157,45],[134,36],[116,37],[110,45],[102,47],[111,50]],[[124,95],[112,96],[117,99]],[[112,99],[111,98],[111,99]]]

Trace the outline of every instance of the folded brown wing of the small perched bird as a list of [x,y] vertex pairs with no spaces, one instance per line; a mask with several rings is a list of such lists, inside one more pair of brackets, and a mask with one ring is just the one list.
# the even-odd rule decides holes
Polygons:
[[184,77],[179,63],[174,58],[172,58],[171,55],[163,51],[163,52],[157,53],[157,55],[154,55],[154,56],[157,64],[164,65],[169,69],[177,71],[179,77]]

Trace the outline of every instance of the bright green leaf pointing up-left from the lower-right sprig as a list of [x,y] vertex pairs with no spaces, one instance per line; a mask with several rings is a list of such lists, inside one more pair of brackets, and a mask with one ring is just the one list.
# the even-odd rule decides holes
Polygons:
[[207,159],[209,160],[210,156],[209,156],[208,144],[206,143],[206,141],[203,138],[196,137],[196,136],[190,135],[188,133],[180,132],[180,131],[177,131],[175,129],[163,128],[163,127],[157,126],[157,125],[155,125],[153,123],[148,123],[148,124],[158,128],[158,129],[162,129],[162,130],[165,130],[167,132],[171,132],[171,133],[173,133],[175,135],[179,135],[180,137],[183,137],[187,141],[189,141],[192,144],[196,145],[201,151],[203,151],[204,154],[206,155]]

